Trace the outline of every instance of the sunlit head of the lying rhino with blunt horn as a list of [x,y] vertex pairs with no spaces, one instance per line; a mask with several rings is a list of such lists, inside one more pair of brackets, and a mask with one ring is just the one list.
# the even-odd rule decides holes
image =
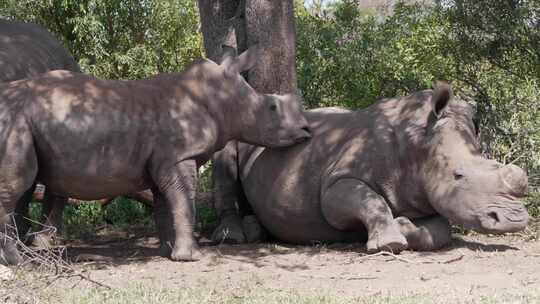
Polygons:
[[432,207],[480,233],[524,229],[529,219],[521,201],[527,194],[526,173],[483,157],[472,108],[453,100],[449,85],[434,90],[430,107],[422,171]]

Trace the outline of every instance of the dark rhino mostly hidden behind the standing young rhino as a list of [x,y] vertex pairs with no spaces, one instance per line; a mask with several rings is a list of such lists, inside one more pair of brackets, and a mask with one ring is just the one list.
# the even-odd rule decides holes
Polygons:
[[[51,70],[80,72],[79,65],[62,43],[45,28],[19,21],[0,20],[0,82],[29,78]],[[30,201],[33,190],[21,200]],[[43,200],[42,222],[46,226],[61,228],[61,211],[67,203],[66,197],[46,193]],[[21,236],[28,230],[29,223],[24,220],[28,204],[19,204],[17,227]],[[53,210],[53,206],[56,207]],[[56,211],[56,212],[55,212]],[[56,224],[59,223],[59,224]],[[54,233],[40,233],[39,242],[49,242]]]

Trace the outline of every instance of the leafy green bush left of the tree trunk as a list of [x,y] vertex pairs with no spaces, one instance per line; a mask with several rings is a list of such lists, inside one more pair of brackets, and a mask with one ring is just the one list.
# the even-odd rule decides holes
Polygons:
[[202,56],[191,0],[1,0],[0,16],[42,24],[101,78],[178,72]]

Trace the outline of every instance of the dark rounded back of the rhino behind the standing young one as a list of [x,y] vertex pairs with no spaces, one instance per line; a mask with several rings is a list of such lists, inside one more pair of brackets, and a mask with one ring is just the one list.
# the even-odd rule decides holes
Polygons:
[[45,28],[0,20],[0,81],[32,77],[55,69],[80,70],[71,54]]

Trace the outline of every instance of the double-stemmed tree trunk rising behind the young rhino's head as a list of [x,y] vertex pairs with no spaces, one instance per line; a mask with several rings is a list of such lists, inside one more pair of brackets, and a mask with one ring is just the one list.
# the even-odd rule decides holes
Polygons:
[[199,0],[199,12],[208,58],[219,60],[223,44],[239,53],[259,44],[248,82],[260,93],[296,93],[293,0]]

